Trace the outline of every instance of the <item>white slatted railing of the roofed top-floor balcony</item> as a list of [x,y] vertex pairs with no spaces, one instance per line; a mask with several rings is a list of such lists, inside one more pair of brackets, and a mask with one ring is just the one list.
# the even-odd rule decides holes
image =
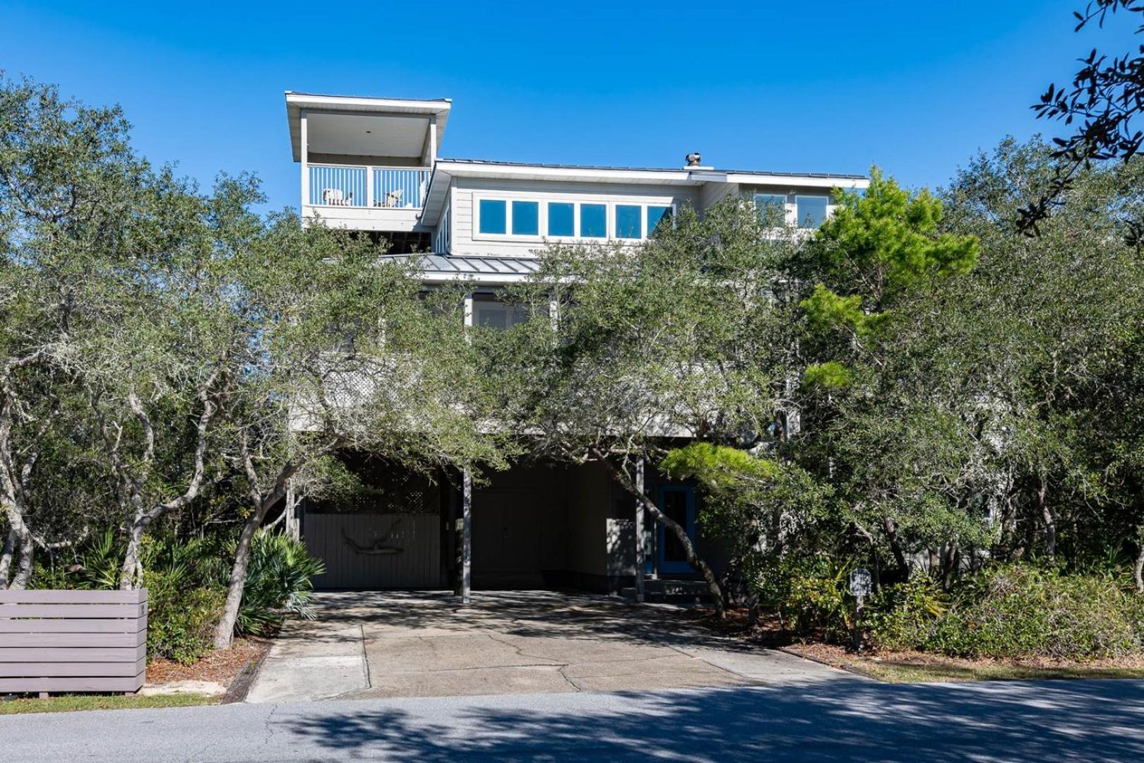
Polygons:
[[429,169],[309,165],[309,204],[327,207],[420,209]]

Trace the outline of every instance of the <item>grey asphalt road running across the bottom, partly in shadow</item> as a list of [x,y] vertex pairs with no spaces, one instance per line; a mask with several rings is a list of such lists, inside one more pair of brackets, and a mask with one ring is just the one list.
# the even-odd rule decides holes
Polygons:
[[840,681],[0,716],[0,760],[974,760],[1144,755],[1144,682]]

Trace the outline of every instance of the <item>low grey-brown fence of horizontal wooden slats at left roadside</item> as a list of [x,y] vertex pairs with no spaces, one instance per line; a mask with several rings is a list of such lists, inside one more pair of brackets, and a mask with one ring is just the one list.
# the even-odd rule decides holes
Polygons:
[[0,693],[134,692],[146,670],[146,589],[0,590]]

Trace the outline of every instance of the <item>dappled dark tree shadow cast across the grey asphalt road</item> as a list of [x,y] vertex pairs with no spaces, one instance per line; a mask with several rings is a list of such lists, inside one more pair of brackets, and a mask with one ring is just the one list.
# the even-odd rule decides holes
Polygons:
[[[498,700],[498,701],[491,701]],[[521,698],[454,700],[436,715],[324,706],[291,733],[336,757],[418,761],[1135,760],[1144,683],[890,685],[831,682],[658,694],[578,694],[554,710]],[[334,708],[334,709],[326,709]]]

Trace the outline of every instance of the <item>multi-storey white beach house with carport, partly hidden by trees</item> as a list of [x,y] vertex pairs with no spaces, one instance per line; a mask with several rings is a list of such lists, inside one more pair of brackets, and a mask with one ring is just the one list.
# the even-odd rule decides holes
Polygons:
[[[545,243],[639,241],[682,206],[701,214],[728,196],[780,206],[788,222],[815,226],[832,212],[832,189],[868,184],[858,175],[716,169],[698,154],[674,168],[445,159],[451,109],[447,98],[286,93],[303,220],[384,238],[388,256],[422,253],[426,284],[471,286],[466,320],[475,325],[519,319],[496,291],[532,272]],[[620,593],[634,585],[636,508],[598,464],[517,467],[494,475],[468,504],[444,476],[395,474],[365,456],[351,466],[371,486],[368,498],[309,506],[297,523],[326,562],[321,587],[467,587],[466,569],[476,588]],[[648,490],[694,534],[690,485],[650,474]],[[694,577],[678,541],[638,524],[648,527],[639,566],[649,593],[685,589],[665,582]],[[382,543],[402,551],[370,553]],[[718,549],[702,538],[697,543],[717,566]]]

